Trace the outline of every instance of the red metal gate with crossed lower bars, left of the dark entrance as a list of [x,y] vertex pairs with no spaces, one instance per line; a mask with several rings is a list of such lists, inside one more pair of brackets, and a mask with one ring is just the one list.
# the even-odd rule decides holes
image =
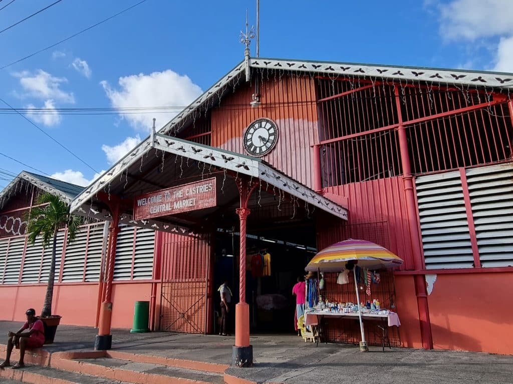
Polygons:
[[207,333],[211,316],[208,238],[164,237],[159,329]]

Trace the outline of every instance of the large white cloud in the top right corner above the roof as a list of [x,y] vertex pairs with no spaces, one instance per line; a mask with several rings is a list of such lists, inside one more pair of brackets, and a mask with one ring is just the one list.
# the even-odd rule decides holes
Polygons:
[[440,34],[446,42],[486,48],[492,56],[486,68],[513,72],[513,1],[425,0],[424,5],[438,13]]

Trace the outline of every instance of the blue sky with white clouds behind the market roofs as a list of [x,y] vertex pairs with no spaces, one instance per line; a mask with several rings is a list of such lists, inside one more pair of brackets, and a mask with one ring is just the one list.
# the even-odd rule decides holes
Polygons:
[[[137,2],[63,0],[0,33],[0,67]],[[0,30],[51,3],[14,1],[0,10]],[[255,3],[147,0],[0,70],[0,97],[15,108],[185,106],[243,59],[239,33],[246,9],[255,23]],[[261,0],[260,55],[513,72],[511,0],[321,4]],[[0,113],[0,153],[85,185],[148,134],[152,117],[158,128],[172,115],[26,115],[91,169],[21,116]],[[0,155],[0,188],[6,172],[23,169],[34,171]]]

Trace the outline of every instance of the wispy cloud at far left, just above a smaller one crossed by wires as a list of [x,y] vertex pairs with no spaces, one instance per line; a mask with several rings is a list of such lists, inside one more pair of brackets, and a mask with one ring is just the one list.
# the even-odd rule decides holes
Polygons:
[[42,69],[35,73],[17,72],[13,73],[13,76],[19,78],[19,84],[30,96],[43,100],[53,99],[64,103],[75,103],[73,93],[61,90],[61,85],[68,82],[66,77],[55,77]]

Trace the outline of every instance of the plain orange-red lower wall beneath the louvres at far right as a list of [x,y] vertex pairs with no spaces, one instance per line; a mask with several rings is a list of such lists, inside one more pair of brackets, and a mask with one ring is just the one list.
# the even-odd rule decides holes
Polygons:
[[513,354],[513,273],[439,274],[428,295],[436,349]]

